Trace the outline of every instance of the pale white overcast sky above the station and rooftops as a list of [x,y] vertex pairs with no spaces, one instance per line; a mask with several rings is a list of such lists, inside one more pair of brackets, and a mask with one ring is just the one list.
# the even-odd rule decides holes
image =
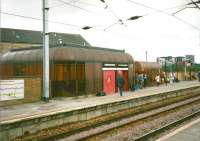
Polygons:
[[[93,46],[125,49],[135,60],[145,61],[147,51],[148,61],[194,54],[200,63],[200,10],[187,8],[171,15],[190,0],[105,1],[49,0],[49,20],[57,22],[49,23],[50,32],[81,34]],[[42,0],[1,0],[1,27],[42,30],[41,20],[5,14],[41,19],[41,9]],[[131,16],[143,17],[128,21]],[[84,26],[93,28],[84,31]]]

